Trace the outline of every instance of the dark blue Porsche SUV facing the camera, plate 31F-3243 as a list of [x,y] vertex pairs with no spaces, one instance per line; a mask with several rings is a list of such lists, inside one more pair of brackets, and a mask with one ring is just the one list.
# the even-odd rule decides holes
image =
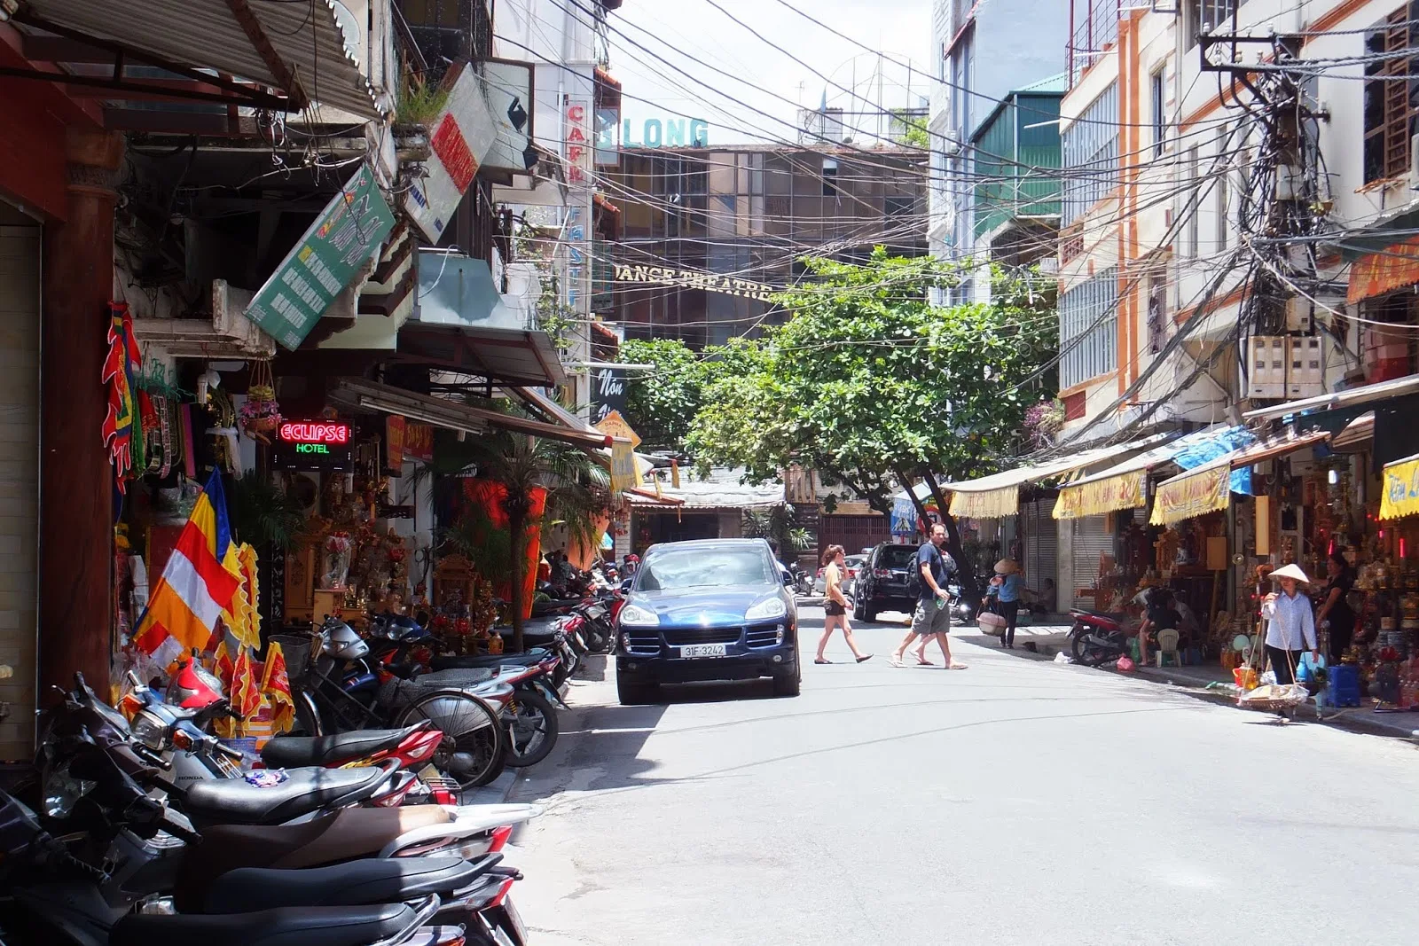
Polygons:
[[797,696],[797,610],[763,539],[666,542],[646,550],[616,623],[616,692],[653,702],[660,684],[773,678]]

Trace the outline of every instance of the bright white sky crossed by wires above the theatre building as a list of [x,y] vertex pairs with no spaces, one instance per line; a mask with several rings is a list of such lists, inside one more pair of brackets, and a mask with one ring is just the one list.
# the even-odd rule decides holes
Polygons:
[[[796,140],[799,105],[819,108],[824,94],[830,108],[867,113],[858,122],[870,123],[864,130],[871,135],[878,102],[888,109],[924,105],[932,84],[921,69],[935,68],[931,0],[786,1],[861,45],[780,0],[626,0],[612,11],[610,71],[622,82],[622,118],[631,122],[633,138],[643,140],[646,119],[687,116],[710,123],[711,145]],[[884,61],[878,69],[878,55],[863,47],[902,65]],[[911,71],[904,68],[908,61]]]

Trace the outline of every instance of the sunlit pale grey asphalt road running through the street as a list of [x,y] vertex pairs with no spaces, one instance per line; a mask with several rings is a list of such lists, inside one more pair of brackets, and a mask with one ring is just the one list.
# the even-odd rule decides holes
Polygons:
[[575,682],[512,796],[538,946],[1415,942],[1419,747],[959,640],[895,669],[901,633],[796,699]]

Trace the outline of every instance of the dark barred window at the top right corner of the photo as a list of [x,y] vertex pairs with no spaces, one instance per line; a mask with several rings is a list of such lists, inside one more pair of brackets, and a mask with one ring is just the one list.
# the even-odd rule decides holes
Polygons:
[[1408,7],[1399,7],[1365,34],[1365,183],[1409,173],[1409,136],[1415,108],[1409,81],[1419,60],[1403,55],[1410,48]]

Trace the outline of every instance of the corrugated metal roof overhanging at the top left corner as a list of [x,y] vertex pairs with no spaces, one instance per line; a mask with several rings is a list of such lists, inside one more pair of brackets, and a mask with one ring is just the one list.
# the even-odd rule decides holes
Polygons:
[[[28,7],[57,26],[291,92],[272,75],[226,0],[28,0]],[[349,52],[358,37],[346,43],[333,0],[253,3],[250,9],[311,101],[380,116],[375,92]]]

